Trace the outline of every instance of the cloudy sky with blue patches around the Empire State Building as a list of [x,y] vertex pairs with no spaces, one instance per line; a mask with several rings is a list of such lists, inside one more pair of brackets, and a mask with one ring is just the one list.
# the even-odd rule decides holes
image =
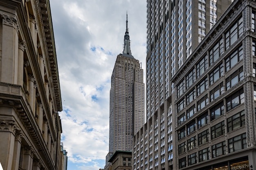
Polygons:
[[[68,170],[104,168],[110,78],[123,51],[126,11],[132,55],[146,64],[146,0],[50,0]],[[144,78],[145,83],[145,78]]]

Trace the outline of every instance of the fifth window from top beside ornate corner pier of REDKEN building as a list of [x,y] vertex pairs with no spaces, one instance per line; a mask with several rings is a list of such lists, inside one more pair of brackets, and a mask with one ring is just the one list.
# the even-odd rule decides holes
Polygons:
[[228,132],[245,126],[245,111],[240,111],[227,119]]

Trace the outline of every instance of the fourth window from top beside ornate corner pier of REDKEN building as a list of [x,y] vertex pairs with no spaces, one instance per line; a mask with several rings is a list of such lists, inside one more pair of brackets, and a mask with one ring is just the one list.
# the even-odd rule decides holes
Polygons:
[[227,111],[237,107],[245,102],[244,89],[238,90],[236,93],[229,96],[227,99]]

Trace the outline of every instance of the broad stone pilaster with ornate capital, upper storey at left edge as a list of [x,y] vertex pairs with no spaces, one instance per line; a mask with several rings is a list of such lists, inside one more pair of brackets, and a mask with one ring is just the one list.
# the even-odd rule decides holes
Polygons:
[[1,82],[17,84],[18,81],[18,24],[15,15],[0,14],[2,17]]

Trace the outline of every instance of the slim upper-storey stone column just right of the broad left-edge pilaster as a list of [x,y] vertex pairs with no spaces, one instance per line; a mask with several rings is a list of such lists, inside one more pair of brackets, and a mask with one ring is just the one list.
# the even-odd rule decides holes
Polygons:
[[18,85],[23,86],[23,57],[24,57],[24,50],[25,50],[25,41],[20,40],[19,41],[19,49],[18,49]]

